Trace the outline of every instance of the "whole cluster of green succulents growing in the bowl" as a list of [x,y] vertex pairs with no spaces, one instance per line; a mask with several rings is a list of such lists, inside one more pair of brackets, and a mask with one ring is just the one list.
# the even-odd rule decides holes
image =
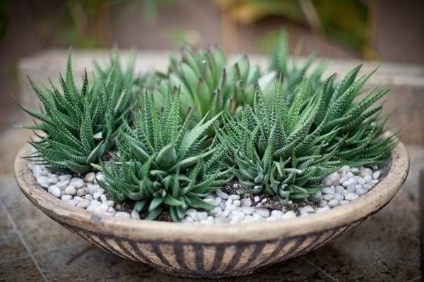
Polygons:
[[[220,49],[182,50],[167,73],[136,75],[114,55],[110,66],[85,73],[76,87],[69,57],[61,90],[33,88],[42,111],[30,159],[54,171],[102,170],[116,200],[132,201],[148,219],[166,211],[173,221],[232,178],[247,194],[281,202],[311,197],[343,165],[382,164],[396,145],[375,102],[387,89],[363,90],[360,66],[324,80],[314,57],[288,61],[282,39],[261,72],[247,56]],[[312,65],[314,65],[312,67]]]

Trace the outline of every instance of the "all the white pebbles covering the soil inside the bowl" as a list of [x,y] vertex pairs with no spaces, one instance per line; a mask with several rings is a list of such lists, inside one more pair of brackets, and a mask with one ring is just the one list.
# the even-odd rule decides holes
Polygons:
[[[89,212],[107,214],[127,219],[140,219],[140,214],[135,209],[131,212],[119,212],[115,203],[108,199],[105,190],[100,188],[98,180],[103,180],[103,173],[90,172],[86,175],[72,176],[70,174],[55,174],[45,166],[28,163],[33,171],[37,183],[45,188],[54,197]],[[205,201],[214,207],[208,212],[187,209],[183,223],[246,223],[252,221],[276,221],[294,219],[299,216],[319,214],[339,205],[366,195],[367,192],[379,183],[382,175],[377,167],[351,168],[343,166],[340,170],[327,176],[323,180],[324,188],[315,194],[315,199],[308,205],[296,205],[289,201],[281,209],[264,207],[269,200],[266,197],[245,197],[234,192],[224,192],[218,189],[205,198]],[[272,201],[271,201],[272,202]]]

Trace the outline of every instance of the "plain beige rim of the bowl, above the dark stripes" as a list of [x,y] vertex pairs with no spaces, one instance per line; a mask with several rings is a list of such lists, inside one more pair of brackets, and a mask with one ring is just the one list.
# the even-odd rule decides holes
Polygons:
[[138,241],[188,242],[188,243],[240,243],[276,240],[307,235],[348,226],[365,219],[384,207],[399,191],[409,171],[409,157],[405,146],[399,144],[391,152],[391,164],[387,176],[366,195],[329,209],[321,214],[311,214],[295,219],[262,221],[239,224],[185,224],[143,219],[124,219],[105,214],[88,212],[73,207],[40,187],[22,157],[30,152],[25,145],[18,152],[15,178],[26,197],[55,221],[67,226],[76,226],[91,232]]

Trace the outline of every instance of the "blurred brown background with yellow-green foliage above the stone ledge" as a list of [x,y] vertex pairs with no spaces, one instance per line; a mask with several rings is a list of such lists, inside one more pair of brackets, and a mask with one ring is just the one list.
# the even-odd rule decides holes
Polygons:
[[281,28],[300,55],[424,63],[422,0],[0,0],[0,111],[15,109],[19,59],[44,49],[266,53]]

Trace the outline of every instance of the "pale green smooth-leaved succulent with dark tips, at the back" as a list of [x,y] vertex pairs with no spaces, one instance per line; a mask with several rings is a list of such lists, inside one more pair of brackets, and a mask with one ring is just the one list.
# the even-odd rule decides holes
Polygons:
[[262,89],[269,89],[275,73],[259,75],[259,68],[249,63],[247,56],[229,61],[218,47],[206,51],[182,49],[178,61],[171,56],[167,74],[155,87],[155,100],[162,105],[168,92],[181,92],[182,114],[193,109],[194,121],[206,113],[215,116],[221,111],[235,114],[240,106],[252,104],[254,82],[259,80]]

